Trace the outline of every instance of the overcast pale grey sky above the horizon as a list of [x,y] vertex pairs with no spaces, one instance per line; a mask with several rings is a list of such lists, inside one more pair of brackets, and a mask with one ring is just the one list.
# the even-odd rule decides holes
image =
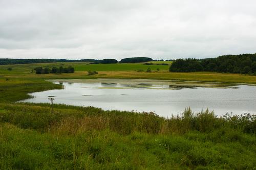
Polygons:
[[0,58],[256,53],[255,0],[0,0]]

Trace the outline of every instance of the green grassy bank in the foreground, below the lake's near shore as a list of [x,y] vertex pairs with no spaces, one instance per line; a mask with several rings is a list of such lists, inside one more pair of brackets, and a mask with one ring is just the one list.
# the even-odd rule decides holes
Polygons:
[[253,169],[255,117],[0,104],[1,169]]

